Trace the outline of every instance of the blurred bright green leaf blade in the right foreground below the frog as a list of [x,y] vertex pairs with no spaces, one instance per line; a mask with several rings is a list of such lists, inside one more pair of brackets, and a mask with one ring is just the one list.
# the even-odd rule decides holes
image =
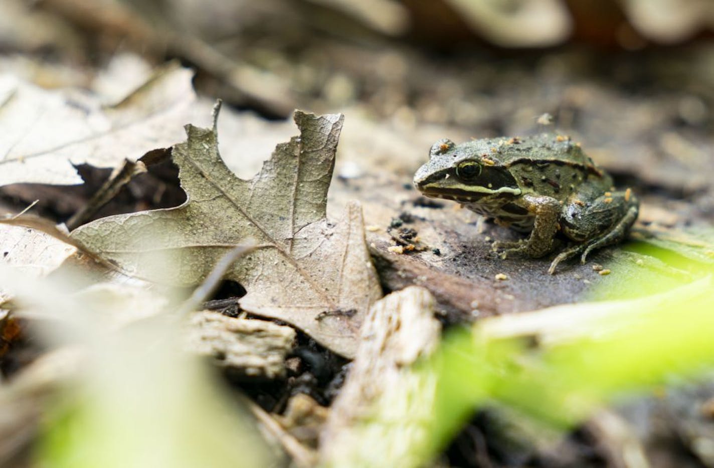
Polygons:
[[[658,267],[639,268],[640,274],[625,279],[608,277],[593,297],[610,300],[496,317],[452,330],[438,352],[415,370],[436,377],[437,389],[433,399],[431,389],[424,389],[433,420],[422,422],[430,434],[413,439],[412,449],[422,462],[433,459],[481,407],[505,407],[508,414],[520,414],[523,424],[535,423],[543,434],[552,434],[605,405],[710,371],[714,262],[707,239],[700,237],[697,245],[671,239],[635,243],[635,258],[651,257],[648,262]],[[613,300],[613,281],[623,283],[618,294],[635,299]],[[514,319],[526,325],[514,327]],[[504,332],[508,327],[513,333]],[[379,414],[373,422],[381,424]]]

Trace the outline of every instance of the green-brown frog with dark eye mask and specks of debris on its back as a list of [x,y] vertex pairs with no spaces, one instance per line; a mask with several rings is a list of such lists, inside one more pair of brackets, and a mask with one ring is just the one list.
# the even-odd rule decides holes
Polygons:
[[579,143],[555,133],[461,144],[441,139],[413,184],[424,196],[456,201],[528,234],[516,242],[493,242],[501,258],[538,258],[559,250],[548,274],[565,260],[580,255],[585,264],[593,250],[623,241],[640,206],[631,189],[615,190],[610,174]]

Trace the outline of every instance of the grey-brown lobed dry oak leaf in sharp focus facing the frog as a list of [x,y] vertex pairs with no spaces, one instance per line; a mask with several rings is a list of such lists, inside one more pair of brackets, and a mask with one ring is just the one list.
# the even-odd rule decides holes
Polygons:
[[300,136],[278,144],[261,171],[243,180],[218,154],[217,114],[218,106],[213,129],[187,125],[187,141],[174,146],[184,204],[98,219],[71,236],[128,274],[178,285],[201,282],[223,254],[252,239],[258,249],[226,273],[247,290],[241,307],[352,357],[381,289],[361,206],[349,203],[336,224],[326,219],[343,116],[296,111]]

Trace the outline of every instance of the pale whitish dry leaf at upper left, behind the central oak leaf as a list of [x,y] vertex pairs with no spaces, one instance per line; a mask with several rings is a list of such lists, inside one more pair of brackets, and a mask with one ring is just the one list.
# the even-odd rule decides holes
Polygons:
[[119,166],[183,139],[196,94],[193,71],[161,66],[119,103],[94,94],[48,91],[0,74],[0,186],[81,184],[74,165]]

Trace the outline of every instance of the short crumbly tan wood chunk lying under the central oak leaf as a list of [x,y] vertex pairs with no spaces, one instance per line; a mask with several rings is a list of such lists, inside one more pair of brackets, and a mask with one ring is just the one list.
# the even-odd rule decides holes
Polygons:
[[193,314],[190,324],[187,346],[191,351],[213,357],[219,366],[244,377],[285,375],[285,358],[295,342],[291,327],[211,311]]

